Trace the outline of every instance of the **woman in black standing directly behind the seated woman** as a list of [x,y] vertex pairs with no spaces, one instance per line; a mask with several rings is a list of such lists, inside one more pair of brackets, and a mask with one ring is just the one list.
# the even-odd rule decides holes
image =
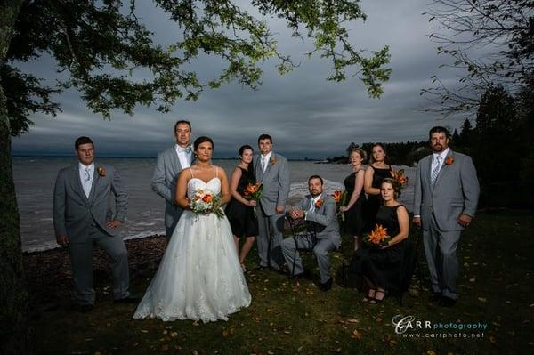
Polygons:
[[385,153],[382,143],[375,143],[372,148],[371,164],[365,171],[365,180],[363,189],[368,194],[368,200],[364,206],[364,231],[370,231],[375,228],[376,213],[382,205],[380,198],[380,185],[385,178],[392,177],[392,166]]

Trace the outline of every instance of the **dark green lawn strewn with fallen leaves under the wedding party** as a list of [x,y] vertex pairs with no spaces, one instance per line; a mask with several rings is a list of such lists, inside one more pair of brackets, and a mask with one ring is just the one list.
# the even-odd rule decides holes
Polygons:
[[[99,302],[87,314],[66,306],[39,311],[34,328],[37,353],[76,354],[531,354],[534,283],[534,214],[498,211],[481,213],[463,234],[458,248],[463,265],[460,299],[454,308],[430,303],[428,290],[414,282],[401,306],[395,299],[373,305],[361,301],[355,288],[335,284],[322,292],[311,280],[288,280],[272,271],[250,272],[247,282],[252,304],[227,322],[196,323],[134,320],[135,305],[113,305],[101,295],[109,279],[97,282]],[[351,243],[347,240],[345,248]],[[345,253],[347,253],[345,251]],[[257,262],[255,250],[247,265]],[[348,254],[348,253],[347,253]],[[340,254],[331,254],[333,269]],[[306,264],[313,267],[312,256]],[[420,260],[425,257],[420,254]],[[422,266],[426,275],[426,266]],[[155,273],[151,264],[142,278],[133,280],[134,292],[143,294]],[[31,275],[28,275],[31,280]],[[30,293],[31,293],[30,286]],[[31,294],[30,294],[31,295]],[[34,302],[35,303],[35,302]],[[38,300],[36,301],[38,303]],[[34,304],[38,309],[39,305]],[[458,331],[412,329],[397,335],[395,315],[413,316],[435,324],[482,323],[482,331],[464,330],[479,338],[435,338]],[[425,323],[423,323],[425,324]]]

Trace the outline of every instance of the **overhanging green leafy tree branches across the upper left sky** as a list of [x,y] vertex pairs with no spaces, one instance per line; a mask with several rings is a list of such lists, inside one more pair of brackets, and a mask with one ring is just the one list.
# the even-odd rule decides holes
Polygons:
[[[135,0],[24,2],[8,61],[14,64],[48,53],[58,71],[66,74],[57,89],[40,92],[36,77],[19,76],[28,80],[26,93],[42,99],[41,106],[27,100],[28,109],[53,113],[58,106],[51,103],[51,94],[69,87],[77,88],[88,107],[106,118],[113,109],[131,115],[138,104],[167,112],[178,99],[197,100],[206,87],[234,80],[255,88],[261,84],[266,60],[278,61],[280,74],[296,67],[279,52],[267,18],[285,20],[293,36],[312,40],[308,54],[319,53],[333,63],[328,80],[358,76],[376,98],[391,74],[384,68],[390,59],[387,46],[366,57],[351,42],[345,26],[366,19],[359,1],[255,0],[256,17],[246,6],[229,0],[155,0],[155,4],[178,28],[174,44],[167,47],[155,43],[154,34],[136,14]],[[223,67],[215,77],[200,80],[191,66],[206,56],[219,57]],[[17,118],[26,124],[28,109]],[[20,127],[19,133],[28,129]]]

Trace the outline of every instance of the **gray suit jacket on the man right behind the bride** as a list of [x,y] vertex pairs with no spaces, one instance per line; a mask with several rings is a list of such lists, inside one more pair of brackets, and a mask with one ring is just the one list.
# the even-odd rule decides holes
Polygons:
[[182,171],[182,165],[174,146],[158,154],[156,168],[152,176],[152,190],[165,198],[165,225],[168,229],[173,226],[182,215],[182,208],[176,206],[176,180]]

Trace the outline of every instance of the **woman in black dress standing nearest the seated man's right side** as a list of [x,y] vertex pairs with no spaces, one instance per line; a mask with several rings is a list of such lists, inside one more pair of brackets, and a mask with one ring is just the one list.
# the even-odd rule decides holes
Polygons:
[[339,211],[344,213],[344,231],[354,237],[354,250],[358,250],[359,238],[363,229],[363,204],[366,199],[363,192],[365,170],[362,164],[367,155],[363,149],[354,148],[351,150],[349,158],[351,159],[352,173],[343,182],[348,201],[346,206],[339,207]]

